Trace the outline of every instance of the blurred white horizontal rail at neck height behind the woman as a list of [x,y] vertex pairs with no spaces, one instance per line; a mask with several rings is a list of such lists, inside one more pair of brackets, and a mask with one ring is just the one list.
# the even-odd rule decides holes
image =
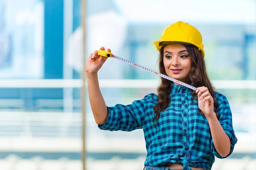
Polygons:
[[[99,79],[101,88],[156,88],[158,83],[158,79]],[[212,83],[217,89],[256,89],[256,80],[213,80]],[[81,87],[81,79],[0,79],[0,88]]]

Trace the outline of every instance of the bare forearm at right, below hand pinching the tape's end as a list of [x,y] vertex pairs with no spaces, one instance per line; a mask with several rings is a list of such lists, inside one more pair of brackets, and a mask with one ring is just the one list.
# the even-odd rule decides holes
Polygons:
[[[215,115],[215,114],[214,114]],[[230,153],[230,139],[224,132],[216,116],[208,117],[209,127],[212,134],[213,144],[217,152],[226,157]]]

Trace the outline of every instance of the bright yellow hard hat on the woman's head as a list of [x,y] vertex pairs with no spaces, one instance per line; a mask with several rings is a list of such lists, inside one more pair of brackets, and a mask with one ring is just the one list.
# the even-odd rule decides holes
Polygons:
[[201,33],[197,28],[188,23],[182,21],[173,23],[166,27],[160,39],[154,42],[159,52],[163,45],[172,43],[193,44],[198,47],[198,50],[202,52],[204,57],[204,45]]

